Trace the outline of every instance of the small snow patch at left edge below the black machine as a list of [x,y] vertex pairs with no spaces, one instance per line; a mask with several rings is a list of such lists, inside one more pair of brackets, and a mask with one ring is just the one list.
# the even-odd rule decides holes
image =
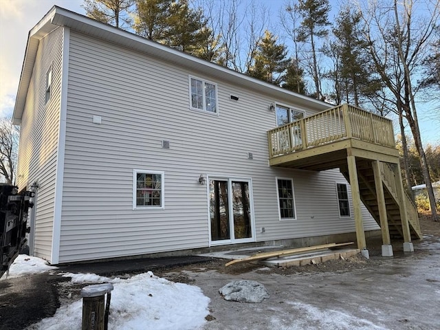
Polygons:
[[28,256],[26,254],[19,254],[9,268],[9,274],[5,273],[1,276],[0,281],[7,278],[43,273],[56,268],[57,267],[55,266],[47,265],[47,261],[43,259],[36,258],[35,256]]

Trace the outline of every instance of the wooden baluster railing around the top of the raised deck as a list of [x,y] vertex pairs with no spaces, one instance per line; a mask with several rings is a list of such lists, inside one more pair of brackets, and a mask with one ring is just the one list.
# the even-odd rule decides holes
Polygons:
[[395,147],[391,120],[342,104],[268,131],[269,157],[348,138]]

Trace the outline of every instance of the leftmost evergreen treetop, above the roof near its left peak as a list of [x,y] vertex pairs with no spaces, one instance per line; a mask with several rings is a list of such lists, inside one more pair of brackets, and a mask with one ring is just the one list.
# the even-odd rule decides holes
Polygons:
[[128,12],[132,5],[133,0],[84,0],[82,7],[87,17],[123,28],[122,23],[130,23]]

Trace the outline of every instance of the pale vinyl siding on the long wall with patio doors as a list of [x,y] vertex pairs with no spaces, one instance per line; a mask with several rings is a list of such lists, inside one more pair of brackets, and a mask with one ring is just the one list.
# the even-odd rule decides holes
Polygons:
[[[252,179],[256,241],[355,231],[334,207],[334,182],[344,180],[337,170],[267,166],[271,95],[218,80],[221,115],[206,115],[188,111],[193,70],[76,32],[69,54],[60,263],[208,247],[201,173]],[[166,208],[133,210],[133,168],[166,173]],[[278,176],[294,180],[296,221],[279,221]]]

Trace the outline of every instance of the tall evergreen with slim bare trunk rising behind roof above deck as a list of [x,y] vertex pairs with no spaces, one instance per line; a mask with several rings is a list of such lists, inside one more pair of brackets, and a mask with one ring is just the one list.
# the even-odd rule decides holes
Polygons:
[[318,68],[316,39],[327,36],[330,25],[328,15],[330,11],[329,0],[298,0],[298,12],[303,17],[301,26],[298,29],[298,41],[309,42],[311,47],[311,76],[315,83],[316,98],[322,98],[320,79],[321,74]]

